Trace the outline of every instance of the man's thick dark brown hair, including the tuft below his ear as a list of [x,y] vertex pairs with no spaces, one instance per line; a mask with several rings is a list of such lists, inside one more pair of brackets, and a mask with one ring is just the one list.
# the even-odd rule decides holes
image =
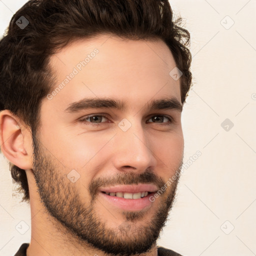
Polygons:
[[[23,27],[19,26],[22,21]],[[173,19],[168,0],[29,0],[11,18],[0,40],[0,110],[19,116],[31,130],[51,90],[49,57],[72,40],[109,33],[127,39],[162,39],[181,70],[181,103],[191,86],[190,34]],[[26,25],[26,26],[25,26]],[[11,176],[29,201],[25,171]]]

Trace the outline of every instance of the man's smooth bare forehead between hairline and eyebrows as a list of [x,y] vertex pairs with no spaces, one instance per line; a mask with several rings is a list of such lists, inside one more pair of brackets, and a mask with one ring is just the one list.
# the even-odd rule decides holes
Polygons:
[[51,56],[50,66],[55,84],[47,104],[64,107],[83,97],[103,96],[134,107],[162,96],[180,101],[180,81],[169,75],[175,61],[160,39],[128,40],[107,34],[79,39]]

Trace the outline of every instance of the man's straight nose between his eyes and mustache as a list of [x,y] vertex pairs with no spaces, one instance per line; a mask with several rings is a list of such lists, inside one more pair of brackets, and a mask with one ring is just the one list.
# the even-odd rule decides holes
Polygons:
[[153,141],[141,126],[141,123],[132,123],[126,131],[118,130],[113,141],[113,163],[120,171],[141,173],[146,169],[154,169],[156,155]]

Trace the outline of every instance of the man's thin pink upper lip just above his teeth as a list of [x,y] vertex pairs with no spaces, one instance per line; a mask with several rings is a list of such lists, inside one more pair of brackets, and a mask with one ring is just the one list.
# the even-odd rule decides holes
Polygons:
[[132,184],[132,185],[115,185],[108,187],[101,187],[101,192],[128,192],[128,193],[138,193],[138,192],[155,192],[157,187],[153,184]]

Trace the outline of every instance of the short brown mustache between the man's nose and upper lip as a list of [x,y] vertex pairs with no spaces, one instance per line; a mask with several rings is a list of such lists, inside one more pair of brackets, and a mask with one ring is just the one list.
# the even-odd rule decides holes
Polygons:
[[152,183],[156,185],[157,190],[165,184],[164,180],[153,172],[148,171],[140,174],[125,172],[117,173],[115,176],[99,177],[92,180],[88,186],[88,192],[90,193],[92,200],[94,200],[99,188],[102,186],[130,185],[138,183]]

